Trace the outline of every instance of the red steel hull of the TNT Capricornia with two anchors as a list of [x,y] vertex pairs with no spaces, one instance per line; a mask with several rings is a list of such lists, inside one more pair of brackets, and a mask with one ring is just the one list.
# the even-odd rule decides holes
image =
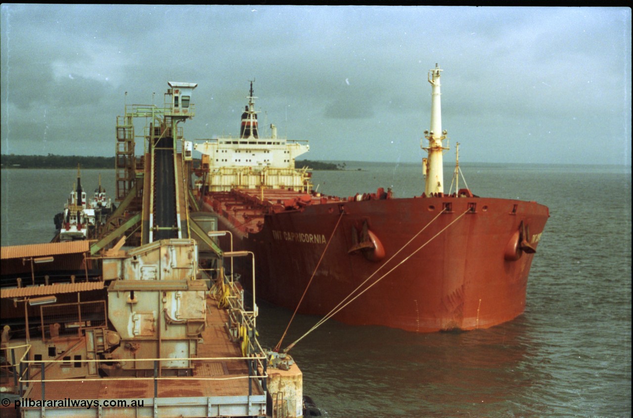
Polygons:
[[[258,193],[241,194],[249,192]],[[334,319],[420,333],[486,328],[522,314],[549,217],[536,202],[475,196],[323,199],[261,217],[235,203],[211,194],[205,206],[220,215],[219,229],[237,234],[236,250],[256,254],[258,298],[294,310],[313,277],[299,312],[326,315],[371,285]],[[234,216],[246,212],[246,221]],[[248,281],[250,260],[235,265]]]

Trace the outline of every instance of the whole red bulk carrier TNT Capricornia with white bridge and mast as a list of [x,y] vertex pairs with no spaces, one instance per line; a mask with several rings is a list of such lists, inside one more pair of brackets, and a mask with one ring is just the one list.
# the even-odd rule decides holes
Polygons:
[[[347,324],[420,333],[486,328],[522,314],[549,210],[469,189],[444,193],[441,71],[429,71],[422,196],[313,191],[310,172],[294,168],[308,145],[277,137],[274,125],[259,136],[252,82],[240,136],[194,145],[203,154],[201,208],[216,213],[235,248],[257,254],[258,297]],[[249,267],[236,269],[248,281]]]

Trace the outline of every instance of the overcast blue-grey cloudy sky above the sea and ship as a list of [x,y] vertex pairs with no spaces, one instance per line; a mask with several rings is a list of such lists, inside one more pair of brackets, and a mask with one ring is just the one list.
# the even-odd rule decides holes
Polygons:
[[187,139],[237,134],[254,79],[306,158],[420,162],[439,63],[460,161],[631,162],[629,8],[4,3],[0,30],[4,154],[112,156],[168,81],[198,84]]

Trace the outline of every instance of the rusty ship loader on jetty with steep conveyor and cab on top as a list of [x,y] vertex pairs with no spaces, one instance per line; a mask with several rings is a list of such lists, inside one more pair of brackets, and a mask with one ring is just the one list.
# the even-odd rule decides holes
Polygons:
[[163,107],[117,119],[119,205],[97,239],[2,248],[3,417],[303,416],[301,371],[263,350],[254,291],[225,273],[254,254],[222,250],[192,199],[196,84],[168,84]]

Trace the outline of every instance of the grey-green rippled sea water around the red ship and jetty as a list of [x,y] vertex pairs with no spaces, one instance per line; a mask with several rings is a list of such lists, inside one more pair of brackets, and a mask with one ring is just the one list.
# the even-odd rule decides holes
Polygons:
[[[315,187],[339,196],[377,187],[398,197],[422,193],[415,165],[347,168],[315,172]],[[630,417],[630,168],[461,168],[475,194],[549,206],[525,314],[467,333],[326,322],[291,351],[304,393],[329,417]],[[82,185],[92,191],[99,173],[113,193],[114,170],[84,170]],[[75,170],[2,170],[2,245],[49,241],[75,177]],[[261,344],[274,346],[290,317],[260,301]],[[284,346],[317,320],[299,315]]]

